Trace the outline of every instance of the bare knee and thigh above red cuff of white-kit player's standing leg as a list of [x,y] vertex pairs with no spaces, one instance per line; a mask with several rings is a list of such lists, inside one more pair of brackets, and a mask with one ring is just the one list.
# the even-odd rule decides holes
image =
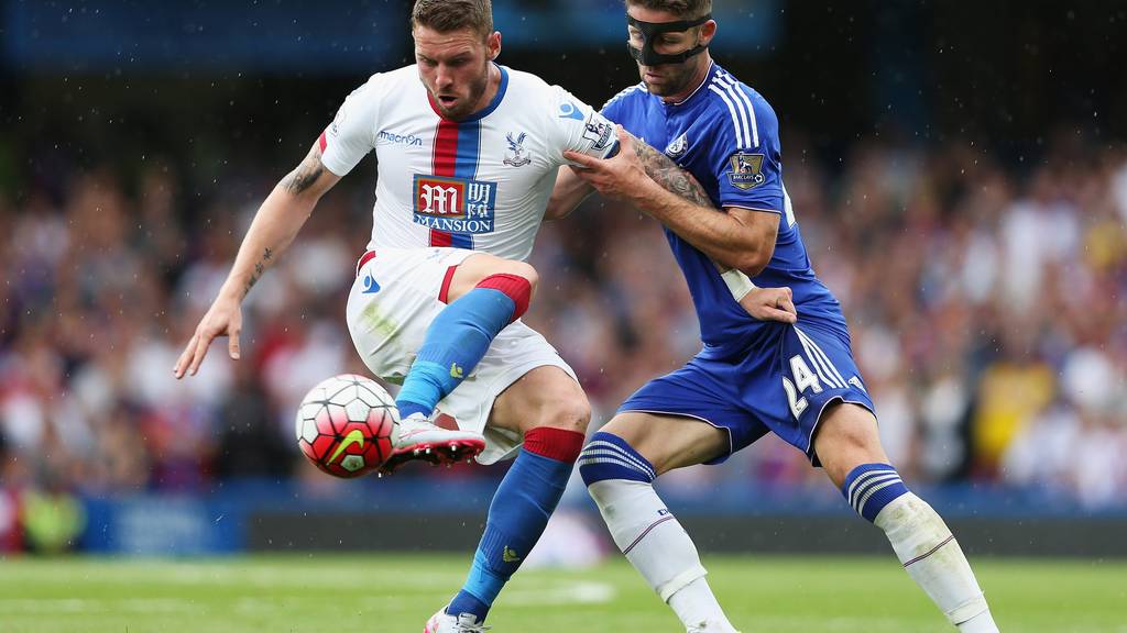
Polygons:
[[521,434],[536,427],[586,433],[591,404],[579,383],[554,365],[535,367],[494,401],[489,426]]

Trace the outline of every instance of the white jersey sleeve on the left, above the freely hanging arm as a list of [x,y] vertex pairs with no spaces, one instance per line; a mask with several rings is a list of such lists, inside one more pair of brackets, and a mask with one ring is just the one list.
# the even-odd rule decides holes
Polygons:
[[353,90],[321,133],[321,163],[332,173],[345,176],[375,148],[375,124],[384,92],[381,84],[381,75],[375,74]]

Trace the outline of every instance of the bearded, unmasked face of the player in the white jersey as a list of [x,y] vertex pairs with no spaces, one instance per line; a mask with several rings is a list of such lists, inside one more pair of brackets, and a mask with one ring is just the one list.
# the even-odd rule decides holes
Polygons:
[[499,33],[482,38],[470,29],[438,33],[416,26],[412,35],[419,79],[438,114],[460,119],[486,106],[481,101],[489,87],[489,62],[500,51]]

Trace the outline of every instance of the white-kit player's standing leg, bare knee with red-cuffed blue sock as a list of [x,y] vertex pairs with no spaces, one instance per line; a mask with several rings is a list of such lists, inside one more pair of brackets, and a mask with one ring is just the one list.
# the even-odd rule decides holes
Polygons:
[[489,425],[523,434],[524,446],[489,505],[473,567],[450,615],[485,621],[556,510],[589,421],[579,384],[554,366],[532,369],[494,402]]

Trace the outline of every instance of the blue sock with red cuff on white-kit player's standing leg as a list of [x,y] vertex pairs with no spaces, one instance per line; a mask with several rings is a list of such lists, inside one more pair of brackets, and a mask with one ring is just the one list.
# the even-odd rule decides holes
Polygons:
[[[548,442],[541,444],[544,436]],[[465,585],[446,613],[472,613],[478,622],[485,621],[502,588],[544,532],[582,446],[583,434],[575,431],[540,427],[525,435],[524,449],[489,505],[486,532]]]

